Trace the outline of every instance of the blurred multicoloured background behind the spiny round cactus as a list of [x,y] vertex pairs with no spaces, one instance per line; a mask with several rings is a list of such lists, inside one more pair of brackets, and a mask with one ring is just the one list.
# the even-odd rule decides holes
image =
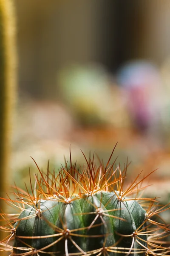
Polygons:
[[[151,177],[170,195],[170,1],[12,0],[17,100],[10,169],[24,187],[81,150]],[[31,157],[30,157],[31,156]],[[159,185],[158,185],[159,184]],[[166,198],[167,200],[167,198]]]

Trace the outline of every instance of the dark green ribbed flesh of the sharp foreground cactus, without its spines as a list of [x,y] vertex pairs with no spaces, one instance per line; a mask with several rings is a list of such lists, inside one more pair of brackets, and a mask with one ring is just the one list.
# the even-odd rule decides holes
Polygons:
[[[119,201],[114,192],[97,192],[64,202],[59,197],[40,200],[35,207],[25,209],[14,225],[14,253],[24,255],[28,248],[42,256],[86,252],[97,255],[101,248],[116,246],[122,250],[124,247],[144,249],[136,241],[132,244],[132,236],[144,223],[145,213],[136,201]],[[146,247],[146,236],[142,239]],[[115,254],[108,252],[108,255]]]

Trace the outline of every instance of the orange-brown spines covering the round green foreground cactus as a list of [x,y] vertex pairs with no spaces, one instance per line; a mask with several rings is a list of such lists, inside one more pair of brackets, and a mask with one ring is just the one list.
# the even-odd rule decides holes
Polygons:
[[[114,148],[115,149],[115,148]],[[113,149],[113,151],[114,151]],[[129,186],[124,185],[127,175],[127,167],[128,163],[124,166],[123,171],[120,170],[120,165],[115,168],[116,160],[112,165],[109,165],[112,154],[108,160],[106,166],[104,166],[103,162],[99,160],[99,167],[94,164],[94,155],[92,158],[89,157],[89,160],[85,157],[87,166],[83,168],[77,169],[76,163],[72,164],[71,161],[71,151],[70,151],[70,166],[68,167],[68,163],[65,161],[65,166],[59,170],[56,174],[55,171],[49,171],[49,163],[47,172],[42,172],[37,163],[35,162],[39,174],[35,175],[35,184],[32,186],[31,183],[31,175],[30,175],[30,191],[26,185],[26,190],[18,188],[16,185],[14,186],[14,192],[12,195],[8,195],[8,198],[3,199],[6,204],[15,208],[19,211],[18,213],[6,214],[2,212],[0,230],[8,233],[6,238],[2,239],[0,242],[0,251],[11,253],[11,256],[40,256],[40,253],[45,253],[45,250],[48,247],[53,246],[57,242],[65,239],[65,255],[73,256],[73,255],[86,255],[86,256],[108,256],[110,253],[124,253],[125,256],[135,253],[143,253],[143,255],[168,255],[170,253],[170,247],[168,245],[168,236],[170,235],[170,229],[167,224],[165,224],[164,220],[159,216],[161,212],[169,209],[169,205],[162,206],[157,201],[157,198],[143,198],[142,193],[146,186],[142,186],[143,181],[149,175],[140,179],[141,173],[137,175],[135,180],[130,183]],[[34,159],[33,159],[34,160]],[[30,245],[25,244],[26,246],[22,248],[15,248],[18,250],[24,250],[25,253],[14,253],[13,240],[16,237],[16,229],[14,224],[18,221],[18,217],[21,212],[23,212],[28,207],[31,207],[31,215],[28,215],[27,218],[43,218],[42,211],[39,202],[42,199],[57,199],[60,202],[65,204],[71,204],[72,201],[81,198],[83,195],[95,195],[98,192],[115,192],[117,195],[117,199],[121,201],[123,204],[128,200],[136,200],[140,201],[142,207],[146,210],[145,222],[147,223],[147,229],[143,228],[143,224],[136,229],[133,234],[130,235],[122,235],[122,237],[130,236],[132,238],[132,244],[130,248],[122,248],[119,247],[119,244],[113,244],[112,246],[106,247],[105,243],[102,248],[97,250],[92,250],[88,252],[84,252],[74,241],[75,232],[78,230],[69,230],[67,226],[63,223],[63,229],[59,227],[55,227],[57,231],[54,235],[46,235],[46,236],[31,236],[27,237],[28,239],[39,239],[39,238],[48,238],[50,236],[56,237],[56,240],[53,244],[45,246],[41,249],[31,248]],[[105,221],[103,219],[104,215],[109,215],[108,211],[102,209],[102,207],[96,207],[95,212],[91,212],[91,214],[95,214],[95,218],[93,223],[89,227],[85,227],[84,229],[90,229],[93,225],[95,225],[95,221],[97,218],[101,218],[104,225]],[[115,216],[110,217],[114,218]],[[18,223],[20,223],[18,221]],[[49,223],[50,225],[50,223]],[[142,243],[142,239],[140,236],[147,236],[147,246],[144,246]],[[79,234],[77,234],[79,236]],[[22,239],[22,236],[17,236],[18,239]],[[68,253],[68,240],[70,240],[75,247],[79,250],[79,253]],[[142,249],[134,249],[134,242],[137,241],[139,245],[142,246]],[[49,255],[54,255],[54,253],[49,253]],[[55,254],[57,255],[57,253]]]

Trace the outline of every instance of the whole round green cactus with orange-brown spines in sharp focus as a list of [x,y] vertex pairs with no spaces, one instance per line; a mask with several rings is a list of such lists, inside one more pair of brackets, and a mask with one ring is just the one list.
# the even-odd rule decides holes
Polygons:
[[34,187],[30,178],[30,191],[15,187],[16,198],[4,199],[19,213],[1,214],[6,220],[1,229],[9,232],[1,251],[11,256],[167,253],[161,240],[168,229],[158,217],[167,207],[158,207],[156,198],[137,197],[144,178],[138,175],[124,189],[127,165],[121,172],[115,162],[109,166],[111,157],[105,167],[102,162],[97,167],[94,156],[85,159],[82,169],[71,158],[70,167],[67,163],[59,172],[50,172],[48,165],[45,174],[37,166]]

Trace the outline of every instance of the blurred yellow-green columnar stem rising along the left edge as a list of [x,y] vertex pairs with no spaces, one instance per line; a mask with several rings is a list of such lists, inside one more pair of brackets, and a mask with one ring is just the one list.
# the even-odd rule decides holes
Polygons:
[[[0,196],[10,184],[12,113],[16,97],[17,51],[15,14],[11,0],[0,0]],[[0,202],[0,211],[4,210]]]

